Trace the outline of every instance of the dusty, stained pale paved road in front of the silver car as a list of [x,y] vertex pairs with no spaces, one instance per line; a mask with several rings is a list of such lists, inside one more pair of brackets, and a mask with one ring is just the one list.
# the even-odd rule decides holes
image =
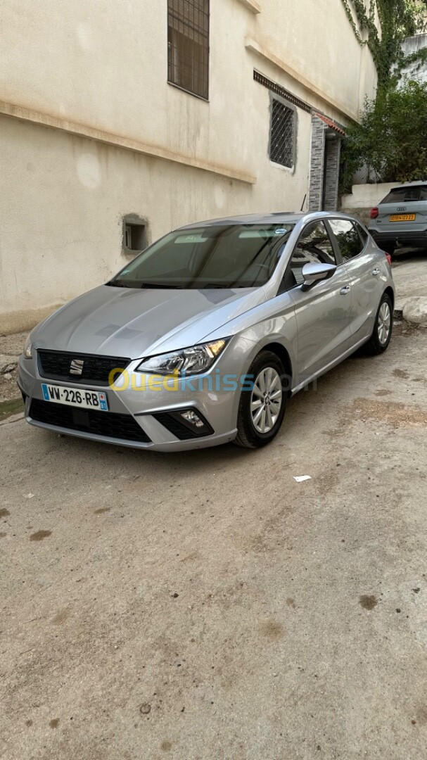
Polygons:
[[400,328],[255,453],[3,424],[0,756],[425,757],[426,365]]

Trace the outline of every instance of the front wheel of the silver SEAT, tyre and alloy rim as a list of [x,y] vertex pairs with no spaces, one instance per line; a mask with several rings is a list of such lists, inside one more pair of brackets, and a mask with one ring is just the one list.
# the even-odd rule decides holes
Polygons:
[[270,443],[280,430],[288,382],[282,362],[272,351],[258,353],[247,376],[253,384],[251,390],[242,390],[240,396],[234,443],[243,448],[261,448]]

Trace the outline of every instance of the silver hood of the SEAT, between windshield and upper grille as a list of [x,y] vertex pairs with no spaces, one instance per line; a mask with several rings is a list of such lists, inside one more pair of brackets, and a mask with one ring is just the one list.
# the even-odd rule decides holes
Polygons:
[[33,346],[138,359],[201,342],[266,299],[264,289],[134,290],[101,285],[31,333]]

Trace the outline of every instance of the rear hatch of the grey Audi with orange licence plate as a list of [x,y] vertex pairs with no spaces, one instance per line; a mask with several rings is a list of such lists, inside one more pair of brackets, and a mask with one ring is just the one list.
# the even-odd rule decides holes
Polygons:
[[427,185],[393,188],[378,205],[379,233],[422,232],[427,226]]

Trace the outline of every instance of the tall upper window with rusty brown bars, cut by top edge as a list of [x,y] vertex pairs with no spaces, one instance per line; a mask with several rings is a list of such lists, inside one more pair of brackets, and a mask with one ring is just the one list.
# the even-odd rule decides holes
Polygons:
[[207,100],[209,0],[168,0],[168,81]]

